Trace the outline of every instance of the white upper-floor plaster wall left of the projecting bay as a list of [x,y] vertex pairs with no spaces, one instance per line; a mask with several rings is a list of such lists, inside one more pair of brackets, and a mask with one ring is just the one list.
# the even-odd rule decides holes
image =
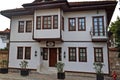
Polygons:
[[33,16],[32,15],[12,17],[10,41],[33,41],[33,39],[32,39],[33,33],[25,32],[26,31],[26,23],[24,23],[24,33],[18,33],[19,21],[27,21],[27,20],[32,20],[32,25],[33,25]]

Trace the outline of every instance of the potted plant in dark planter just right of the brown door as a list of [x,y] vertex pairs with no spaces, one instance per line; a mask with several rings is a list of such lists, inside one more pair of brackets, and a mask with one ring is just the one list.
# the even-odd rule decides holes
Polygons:
[[63,68],[64,68],[64,63],[62,62],[58,62],[56,64],[56,68],[57,68],[57,78],[58,79],[65,79],[65,72],[63,71]]

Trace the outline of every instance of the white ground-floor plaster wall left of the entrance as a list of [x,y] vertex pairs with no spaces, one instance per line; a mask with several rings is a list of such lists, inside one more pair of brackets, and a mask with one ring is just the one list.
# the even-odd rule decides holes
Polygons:
[[[31,43],[10,43],[9,50],[9,67],[20,68],[20,62],[22,59],[17,59],[17,47],[31,47],[31,59],[27,60],[28,68],[37,69],[40,68],[40,46],[37,42]],[[37,56],[35,56],[35,51],[37,51]],[[23,51],[24,52],[24,51]]]

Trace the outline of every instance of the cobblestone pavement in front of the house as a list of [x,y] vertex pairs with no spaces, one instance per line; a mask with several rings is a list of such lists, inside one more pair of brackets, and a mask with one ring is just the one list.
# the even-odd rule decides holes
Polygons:
[[[29,76],[20,76],[20,73],[9,72],[8,74],[0,74],[0,80],[58,80],[56,74],[40,74],[30,73]],[[95,80],[94,76],[78,76],[66,75],[65,80]]]

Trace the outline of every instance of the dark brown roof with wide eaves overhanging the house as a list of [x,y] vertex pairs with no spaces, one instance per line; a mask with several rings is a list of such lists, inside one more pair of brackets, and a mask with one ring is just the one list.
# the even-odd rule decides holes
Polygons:
[[67,2],[67,0],[56,0],[48,2],[32,2],[23,4],[23,8],[3,10],[0,13],[8,18],[12,16],[33,15],[37,9],[53,9],[60,8],[64,12],[100,10],[104,9],[107,13],[108,24],[113,15],[117,1],[88,1],[88,2]]

